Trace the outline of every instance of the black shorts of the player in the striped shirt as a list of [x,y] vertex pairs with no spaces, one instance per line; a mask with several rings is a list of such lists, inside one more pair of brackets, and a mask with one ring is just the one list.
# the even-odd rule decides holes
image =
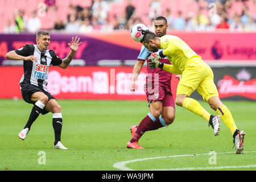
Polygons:
[[[55,97],[52,96],[49,92],[47,92],[44,89],[39,88],[38,86],[31,85],[31,84],[23,84],[20,83],[21,92],[22,92],[22,98],[24,101],[26,101],[29,104],[35,104],[35,102],[31,101],[31,95],[35,92],[43,92],[48,97],[48,101],[51,99],[55,99]],[[46,110],[46,107],[44,107],[42,114],[47,114],[49,111]]]

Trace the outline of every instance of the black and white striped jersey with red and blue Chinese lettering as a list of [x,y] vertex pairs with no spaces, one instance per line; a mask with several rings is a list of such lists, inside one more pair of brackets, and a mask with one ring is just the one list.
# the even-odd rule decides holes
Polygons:
[[41,89],[46,89],[49,65],[59,65],[62,60],[52,50],[41,52],[36,44],[27,44],[26,46],[15,49],[15,52],[21,56],[34,55],[38,62],[23,61],[24,74],[19,84],[32,84]]

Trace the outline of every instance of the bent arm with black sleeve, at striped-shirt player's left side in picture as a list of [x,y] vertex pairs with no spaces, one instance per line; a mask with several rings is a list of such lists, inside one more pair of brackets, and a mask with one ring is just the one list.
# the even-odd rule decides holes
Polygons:
[[20,49],[7,52],[5,57],[10,60],[25,60],[38,62],[38,59],[35,56],[30,55],[30,51],[30,45],[26,45]]

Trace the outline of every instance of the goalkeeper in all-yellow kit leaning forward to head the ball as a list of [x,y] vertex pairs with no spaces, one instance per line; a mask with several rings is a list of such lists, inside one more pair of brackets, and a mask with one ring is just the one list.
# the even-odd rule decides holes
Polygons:
[[[159,38],[153,32],[147,31],[141,42],[148,51],[153,52],[148,57],[151,60],[148,63],[150,69],[161,68],[170,73],[182,74],[177,85],[176,105],[203,117],[213,127],[215,136],[220,132],[221,117],[233,135],[236,154],[241,154],[245,131],[237,129],[228,107],[220,101],[209,65],[177,36],[164,35]],[[158,52],[158,49],[163,51]],[[171,65],[159,62],[162,57],[167,57]],[[189,97],[195,90],[217,112],[217,115],[209,114],[199,102]]]

